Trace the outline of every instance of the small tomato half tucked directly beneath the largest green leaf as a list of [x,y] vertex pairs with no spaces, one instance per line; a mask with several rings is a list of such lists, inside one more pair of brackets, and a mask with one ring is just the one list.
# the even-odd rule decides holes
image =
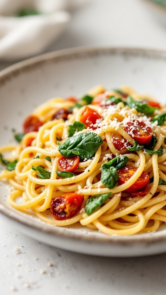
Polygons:
[[60,171],[73,171],[78,167],[79,163],[79,157],[78,156],[72,156],[70,158],[66,158],[64,156],[61,156],[58,160],[58,169]]

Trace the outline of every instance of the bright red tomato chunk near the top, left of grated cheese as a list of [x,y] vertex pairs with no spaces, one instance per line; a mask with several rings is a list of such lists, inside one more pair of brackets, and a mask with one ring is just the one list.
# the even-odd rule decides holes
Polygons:
[[89,106],[86,106],[85,111],[81,116],[80,122],[84,123],[87,127],[95,130],[97,127],[94,127],[93,125],[96,123],[97,119],[103,118],[93,109],[90,109]]

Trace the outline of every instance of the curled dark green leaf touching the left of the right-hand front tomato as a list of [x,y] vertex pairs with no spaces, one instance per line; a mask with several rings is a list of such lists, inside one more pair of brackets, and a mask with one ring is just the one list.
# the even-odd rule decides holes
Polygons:
[[128,160],[127,156],[118,156],[103,164],[101,166],[101,182],[109,189],[116,186],[119,179],[117,170],[124,167]]

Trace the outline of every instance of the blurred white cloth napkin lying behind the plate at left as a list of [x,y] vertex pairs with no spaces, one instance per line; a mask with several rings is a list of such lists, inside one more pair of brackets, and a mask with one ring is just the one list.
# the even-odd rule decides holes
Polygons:
[[[23,59],[42,53],[65,30],[69,12],[85,0],[0,0],[0,59]],[[20,10],[41,14],[16,17]]]

